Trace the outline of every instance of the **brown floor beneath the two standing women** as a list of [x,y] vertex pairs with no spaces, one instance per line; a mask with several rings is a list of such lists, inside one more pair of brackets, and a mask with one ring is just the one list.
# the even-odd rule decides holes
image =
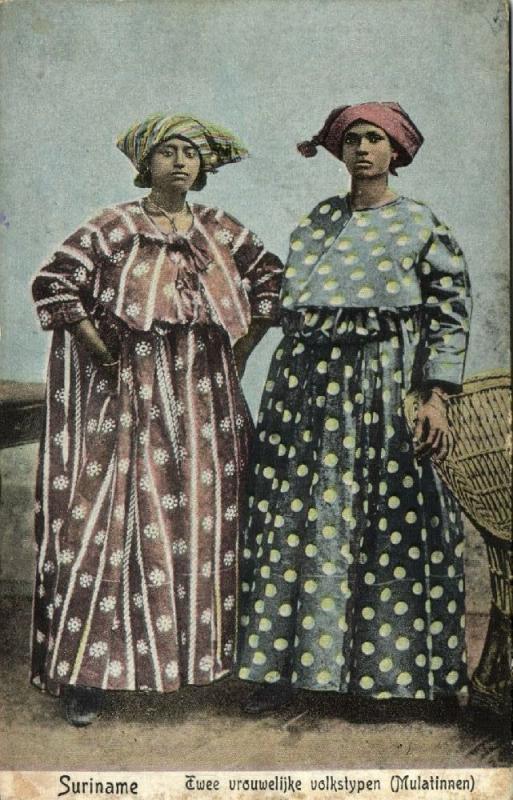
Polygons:
[[[487,619],[470,614],[474,668]],[[251,686],[225,680],[172,695],[112,693],[102,717],[69,726],[59,702],[27,684],[30,603],[0,601],[1,769],[312,769],[509,766],[505,723],[422,701],[349,704],[298,695],[265,718],[239,711]]]

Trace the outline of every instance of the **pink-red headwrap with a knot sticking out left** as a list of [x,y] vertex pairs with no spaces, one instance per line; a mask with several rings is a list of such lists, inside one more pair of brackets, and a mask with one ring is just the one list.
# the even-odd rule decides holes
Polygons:
[[311,158],[316,155],[317,146],[320,145],[340,159],[344,133],[357,120],[377,125],[399,145],[400,150],[391,169],[394,174],[396,167],[405,167],[413,160],[424,141],[421,132],[399,103],[359,103],[335,108],[316,136],[298,144],[299,152],[305,158]]

